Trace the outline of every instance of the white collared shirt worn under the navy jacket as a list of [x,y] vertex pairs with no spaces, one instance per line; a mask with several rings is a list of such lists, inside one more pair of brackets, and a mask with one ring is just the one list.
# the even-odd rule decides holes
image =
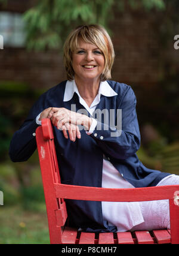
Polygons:
[[[97,104],[100,103],[101,95],[105,97],[113,97],[116,94],[115,91],[110,87],[107,81],[100,82],[98,94],[90,107],[88,107],[85,100],[79,94],[75,80],[67,81],[66,88],[64,91],[63,101],[69,101],[72,99],[73,94],[76,92],[79,97],[79,102],[85,109],[90,113],[94,112]],[[41,124],[39,116],[36,118],[37,124]],[[92,124],[90,130],[87,132],[90,135],[97,125],[97,121],[92,118]],[[105,156],[104,156],[105,157]],[[102,175],[102,188],[134,188],[124,177],[121,176],[119,171],[113,166],[113,164],[106,158],[103,158],[103,175]],[[132,227],[144,222],[143,215],[141,213],[140,204],[138,202],[101,202],[103,219],[109,222],[109,225],[115,225],[118,231],[131,230]]]

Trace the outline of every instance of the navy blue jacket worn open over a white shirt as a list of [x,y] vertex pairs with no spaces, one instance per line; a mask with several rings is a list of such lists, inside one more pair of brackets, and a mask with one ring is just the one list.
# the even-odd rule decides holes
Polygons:
[[[111,136],[111,132],[118,132],[118,127],[109,127],[108,124],[104,124],[103,115],[100,120],[100,130],[97,126],[91,135],[82,130],[81,139],[77,138],[75,142],[64,138],[63,132],[54,127],[61,183],[101,187],[104,154],[133,186],[137,188],[155,186],[169,173],[146,168],[136,155],[140,147],[140,131],[135,111],[134,92],[124,83],[107,82],[118,95],[113,97],[101,95],[96,109],[122,109],[121,135]],[[71,104],[76,105],[76,111],[84,109],[84,106],[79,103],[76,92],[70,101],[63,101],[65,86],[66,81],[61,82],[42,94],[36,101],[29,116],[11,140],[9,153],[12,161],[26,161],[35,151],[36,140],[33,133],[38,127],[36,116],[42,110],[48,107],[65,107],[71,110]],[[117,126],[116,113],[115,111]],[[85,231],[116,231],[116,227],[109,227],[106,221],[103,222],[101,202],[66,200],[66,203],[70,225],[81,227]]]

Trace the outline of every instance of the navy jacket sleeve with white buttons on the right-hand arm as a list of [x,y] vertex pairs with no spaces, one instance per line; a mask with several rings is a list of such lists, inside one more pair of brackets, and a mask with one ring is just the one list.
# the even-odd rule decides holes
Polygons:
[[97,126],[90,136],[94,138],[106,156],[126,159],[139,149],[140,131],[135,106],[135,94],[129,86],[116,110],[116,112],[121,110],[119,114],[122,114],[121,118],[119,118],[120,115],[116,115],[116,119],[119,118],[119,120],[116,120],[115,124],[118,125],[111,127],[97,121]]

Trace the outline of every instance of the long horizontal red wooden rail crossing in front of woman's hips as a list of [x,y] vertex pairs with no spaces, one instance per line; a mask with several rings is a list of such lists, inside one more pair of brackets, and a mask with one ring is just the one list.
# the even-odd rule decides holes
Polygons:
[[147,188],[96,188],[54,183],[57,198],[90,201],[150,201],[170,199],[179,185]]

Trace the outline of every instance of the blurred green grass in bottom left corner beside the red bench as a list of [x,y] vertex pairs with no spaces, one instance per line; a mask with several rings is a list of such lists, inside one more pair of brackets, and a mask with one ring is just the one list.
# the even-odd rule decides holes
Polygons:
[[1,244],[50,243],[47,213],[23,210],[16,206],[0,206]]

